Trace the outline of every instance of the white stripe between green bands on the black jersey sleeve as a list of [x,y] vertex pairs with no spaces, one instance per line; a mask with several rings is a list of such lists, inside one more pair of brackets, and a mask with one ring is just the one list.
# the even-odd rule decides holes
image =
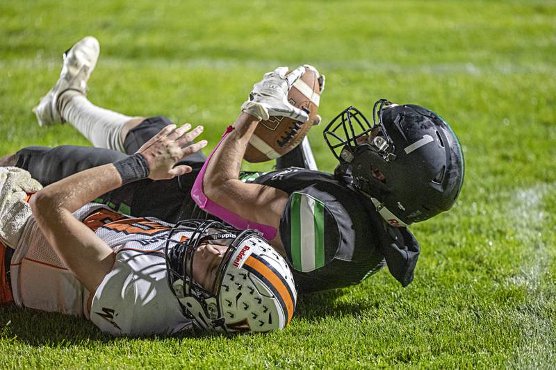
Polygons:
[[315,200],[302,196],[300,204],[302,271],[315,269]]

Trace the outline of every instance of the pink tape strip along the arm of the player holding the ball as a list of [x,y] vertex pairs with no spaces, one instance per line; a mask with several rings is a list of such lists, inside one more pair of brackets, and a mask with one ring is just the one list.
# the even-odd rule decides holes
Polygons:
[[211,215],[220,217],[220,219],[226,221],[231,226],[234,226],[235,228],[238,228],[240,230],[252,228],[254,230],[259,231],[259,233],[262,233],[265,239],[272,240],[276,237],[276,233],[277,233],[276,228],[273,228],[272,226],[268,226],[268,225],[257,224],[256,222],[253,221],[249,221],[248,219],[245,219],[240,215],[237,215],[236,213],[227,210],[226,208],[222,207],[222,205],[218,205],[214,203],[213,201],[211,201],[211,199],[208,199],[208,197],[204,194],[203,179],[204,179],[204,174],[206,172],[206,167],[208,166],[208,162],[211,161],[213,154],[218,150],[220,144],[222,144],[224,139],[229,135],[229,133],[231,133],[232,130],[234,130],[234,128],[232,126],[228,126],[226,132],[224,132],[224,135],[222,135],[222,140],[220,140],[220,142],[216,145],[211,155],[208,155],[208,159],[204,162],[201,171],[199,172],[197,178],[195,179],[193,188],[191,189],[191,198],[193,198],[195,203],[199,205],[199,208],[205,210]]

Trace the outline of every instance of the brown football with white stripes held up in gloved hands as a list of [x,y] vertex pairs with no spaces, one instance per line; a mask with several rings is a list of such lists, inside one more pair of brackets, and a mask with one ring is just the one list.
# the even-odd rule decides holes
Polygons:
[[243,156],[247,162],[273,160],[300,144],[312,126],[320,102],[316,72],[305,68],[303,76],[295,81],[288,93],[288,100],[293,106],[309,112],[309,121],[302,123],[286,117],[270,117],[268,121],[259,122]]

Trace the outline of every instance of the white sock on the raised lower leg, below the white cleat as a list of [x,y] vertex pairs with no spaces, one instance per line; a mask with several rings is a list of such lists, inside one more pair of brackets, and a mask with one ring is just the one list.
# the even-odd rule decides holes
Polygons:
[[99,108],[75,90],[67,90],[58,97],[58,108],[62,118],[97,148],[125,152],[122,128],[133,117]]

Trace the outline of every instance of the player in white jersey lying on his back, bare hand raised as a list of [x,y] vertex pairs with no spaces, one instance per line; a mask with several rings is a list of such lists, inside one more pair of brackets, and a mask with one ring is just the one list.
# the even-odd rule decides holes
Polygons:
[[259,233],[215,221],[174,226],[90,203],[135,180],[191,171],[174,167],[206,145],[183,148],[202,132],[189,128],[167,126],[135,155],[51,184],[28,203],[26,192],[40,185],[22,169],[0,168],[0,241],[3,253],[15,249],[3,300],[83,315],[113,335],[284,328],[295,309],[293,277]]

